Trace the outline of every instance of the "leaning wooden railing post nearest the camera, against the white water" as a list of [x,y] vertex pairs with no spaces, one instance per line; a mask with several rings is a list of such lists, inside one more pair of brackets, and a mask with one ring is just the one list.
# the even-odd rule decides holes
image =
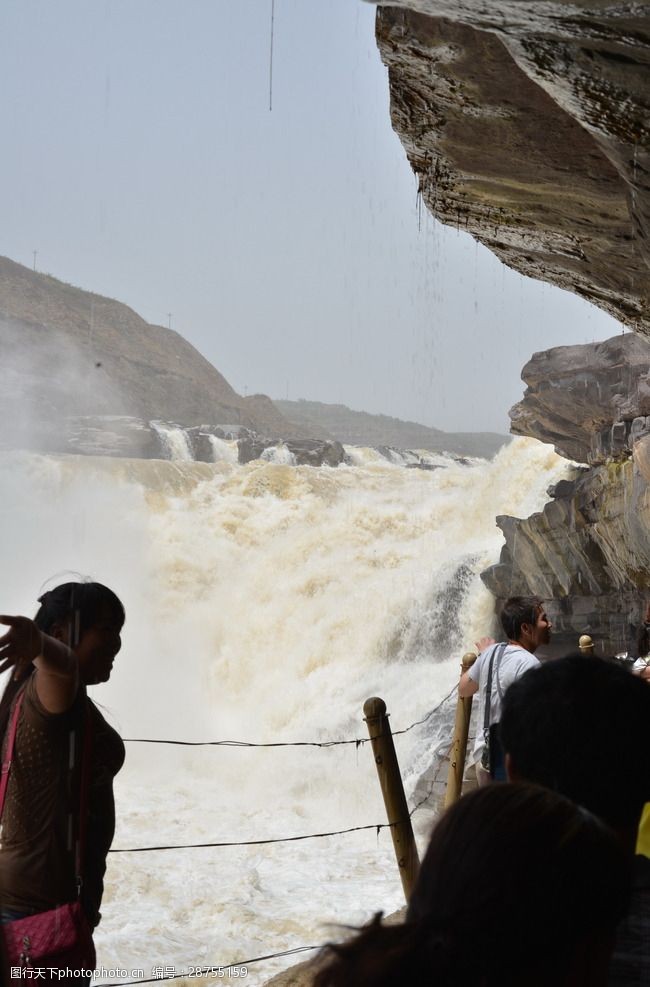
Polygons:
[[393,735],[388,723],[386,703],[376,696],[367,699],[363,704],[363,715],[368,725],[381,793],[384,796],[404,897],[408,902],[418,876],[420,860],[397,763]]

